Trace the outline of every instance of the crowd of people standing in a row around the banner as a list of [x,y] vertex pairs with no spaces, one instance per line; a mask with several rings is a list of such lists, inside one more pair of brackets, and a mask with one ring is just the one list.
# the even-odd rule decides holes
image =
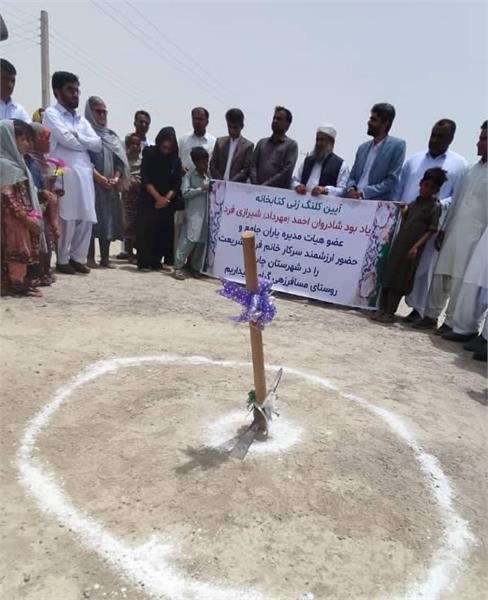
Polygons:
[[154,143],[151,117],[139,110],[122,141],[108,127],[101,98],[88,98],[84,116],[78,114],[80,83],[73,73],[53,74],[56,104],[32,118],[13,100],[15,81],[15,67],[1,59],[2,294],[42,295],[40,287],[55,281],[53,252],[58,273],[111,268],[116,240],[124,244],[117,258],[141,272],[200,277],[213,179],[391,200],[400,206],[401,222],[372,318],[394,322],[405,297],[412,308],[406,323],[463,342],[486,360],[486,121],[473,166],[449,149],[456,132],[450,119],[435,123],[427,150],[405,162],[405,141],[390,135],[395,109],[379,103],[367,124],[372,139],[359,146],[351,168],[334,152],[337,131],[330,123],[317,127],[313,150],[297,165],[298,145],[287,135],[293,117],[283,106],[274,110],[271,135],[256,145],[242,135],[238,108],[225,115],[226,136],[210,134],[207,109],[196,107],[190,132],[178,140],[173,127],[163,127]]

